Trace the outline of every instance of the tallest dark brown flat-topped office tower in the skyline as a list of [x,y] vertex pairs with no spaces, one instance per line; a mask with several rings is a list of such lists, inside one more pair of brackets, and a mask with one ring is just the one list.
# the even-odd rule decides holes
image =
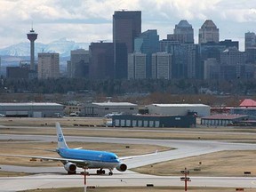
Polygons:
[[141,33],[141,12],[115,12],[113,43],[115,78],[127,78],[127,56],[134,49],[134,39]]

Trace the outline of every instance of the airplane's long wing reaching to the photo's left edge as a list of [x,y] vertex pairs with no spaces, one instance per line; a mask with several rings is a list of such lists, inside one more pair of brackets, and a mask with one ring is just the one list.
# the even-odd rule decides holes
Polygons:
[[89,163],[84,160],[79,160],[79,159],[68,159],[68,158],[61,158],[61,157],[48,157],[48,156],[21,156],[21,155],[3,155],[1,154],[0,156],[12,156],[12,157],[25,157],[25,158],[31,158],[31,159],[42,159],[42,160],[52,160],[52,161],[67,161],[67,162],[72,162],[75,164],[85,164],[88,165]]

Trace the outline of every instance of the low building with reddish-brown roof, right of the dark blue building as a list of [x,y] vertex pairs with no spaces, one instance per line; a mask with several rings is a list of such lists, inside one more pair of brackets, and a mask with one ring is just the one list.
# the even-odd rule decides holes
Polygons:
[[234,124],[245,123],[248,120],[253,119],[252,116],[248,115],[213,115],[205,116],[201,118],[201,124],[207,126],[228,126]]

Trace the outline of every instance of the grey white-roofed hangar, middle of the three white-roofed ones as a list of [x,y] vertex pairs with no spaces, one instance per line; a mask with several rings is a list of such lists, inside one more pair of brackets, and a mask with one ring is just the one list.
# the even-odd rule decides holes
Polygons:
[[92,102],[86,104],[82,116],[106,116],[107,114],[138,114],[138,105],[129,102]]

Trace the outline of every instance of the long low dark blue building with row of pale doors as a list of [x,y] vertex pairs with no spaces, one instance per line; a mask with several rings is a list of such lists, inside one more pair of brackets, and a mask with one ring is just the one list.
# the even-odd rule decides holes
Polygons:
[[112,116],[112,125],[124,127],[195,127],[196,116]]

